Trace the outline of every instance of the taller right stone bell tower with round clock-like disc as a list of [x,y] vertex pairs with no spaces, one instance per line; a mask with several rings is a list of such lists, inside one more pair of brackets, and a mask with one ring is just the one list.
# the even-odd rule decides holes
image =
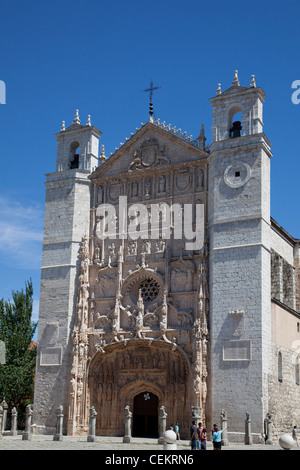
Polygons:
[[[210,397],[212,421],[226,409],[255,432],[268,411],[270,368],[270,143],[263,133],[265,93],[254,76],[212,98],[209,156]],[[236,116],[239,116],[237,119]],[[240,117],[241,116],[241,117]]]

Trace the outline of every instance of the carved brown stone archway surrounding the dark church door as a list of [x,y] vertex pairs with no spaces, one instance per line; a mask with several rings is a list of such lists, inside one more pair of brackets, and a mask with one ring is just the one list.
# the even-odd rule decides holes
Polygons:
[[[158,423],[159,408],[165,406],[168,424],[178,421],[181,429],[190,421],[190,370],[180,350],[164,341],[132,339],[127,345],[114,343],[98,353],[88,372],[89,402],[97,411],[96,434],[124,434],[124,408],[129,405],[133,417],[152,416]],[[135,397],[149,393],[157,397],[155,414],[134,412]],[[150,432],[156,424],[149,427]],[[158,427],[158,426],[157,426]],[[141,433],[141,425],[138,426]]]

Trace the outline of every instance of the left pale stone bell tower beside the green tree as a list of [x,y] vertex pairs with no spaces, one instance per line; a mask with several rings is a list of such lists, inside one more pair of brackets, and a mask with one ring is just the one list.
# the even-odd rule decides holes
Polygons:
[[51,431],[55,410],[66,406],[78,252],[89,230],[89,175],[98,166],[100,135],[90,116],[80,123],[76,110],[72,125],[63,122],[56,134],[56,172],[47,175],[34,401],[39,432]]

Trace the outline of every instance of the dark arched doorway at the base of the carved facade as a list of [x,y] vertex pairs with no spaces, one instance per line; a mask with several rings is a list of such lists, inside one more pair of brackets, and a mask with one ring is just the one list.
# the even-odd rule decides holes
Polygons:
[[133,399],[134,437],[158,437],[158,397],[151,392],[142,392]]

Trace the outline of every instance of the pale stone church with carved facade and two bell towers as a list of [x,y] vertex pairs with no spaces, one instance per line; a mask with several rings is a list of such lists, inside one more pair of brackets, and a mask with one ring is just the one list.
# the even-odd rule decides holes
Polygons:
[[[54,432],[60,405],[68,435],[88,433],[91,406],[98,435],[124,435],[127,405],[134,436],[158,436],[162,406],[185,438],[223,410],[232,441],[246,413],[258,441],[267,418],[274,436],[300,424],[299,240],[270,217],[265,93],[249,82],[235,72],[210,99],[211,145],[203,127],[193,140],[150,112],[107,158],[90,117],[63,122],[46,181],[37,432]],[[197,207],[201,246],[188,243]]]

